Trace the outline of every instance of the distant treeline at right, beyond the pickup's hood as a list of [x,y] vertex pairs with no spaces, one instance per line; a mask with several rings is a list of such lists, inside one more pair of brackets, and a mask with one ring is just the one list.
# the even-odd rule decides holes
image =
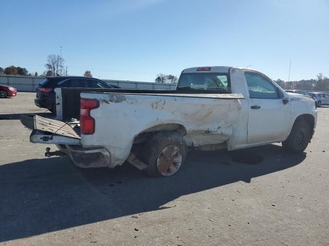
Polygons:
[[329,78],[322,73],[317,75],[317,79],[302,79],[299,81],[275,80],[283,89],[298,89],[304,91],[329,91]]

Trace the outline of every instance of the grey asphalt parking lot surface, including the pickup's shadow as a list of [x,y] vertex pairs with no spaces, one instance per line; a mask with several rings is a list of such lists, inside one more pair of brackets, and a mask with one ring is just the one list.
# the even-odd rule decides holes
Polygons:
[[329,245],[329,107],[302,155],[190,152],[148,178],[45,157],[19,120],[45,111],[34,97],[0,99],[0,245]]

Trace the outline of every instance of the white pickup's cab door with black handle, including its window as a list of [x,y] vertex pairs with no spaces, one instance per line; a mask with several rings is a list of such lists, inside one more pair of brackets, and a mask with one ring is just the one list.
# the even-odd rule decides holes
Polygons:
[[245,72],[249,91],[248,144],[284,140],[288,135],[290,104],[265,76]]

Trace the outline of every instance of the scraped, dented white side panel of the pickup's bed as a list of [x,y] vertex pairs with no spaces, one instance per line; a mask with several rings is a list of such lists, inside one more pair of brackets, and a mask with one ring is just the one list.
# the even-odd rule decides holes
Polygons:
[[[114,98],[118,100],[119,96],[122,96],[122,101],[111,101]],[[237,95],[236,99],[220,99],[218,94],[213,98],[210,94],[207,95],[210,98],[195,96],[81,93],[82,98],[100,100],[100,107],[90,112],[96,120],[95,133],[82,135],[81,144],[104,147],[111,153],[111,166],[116,166],[129,156],[135,136],[162,124],[184,126],[188,145],[226,141],[232,133],[232,121],[241,110],[237,99],[241,95]]]

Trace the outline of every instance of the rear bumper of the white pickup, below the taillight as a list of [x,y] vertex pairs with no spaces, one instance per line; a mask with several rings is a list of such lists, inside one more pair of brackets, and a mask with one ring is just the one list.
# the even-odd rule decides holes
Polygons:
[[57,145],[80,168],[111,167],[111,155],[104,148],[86,148],[81,145]]

